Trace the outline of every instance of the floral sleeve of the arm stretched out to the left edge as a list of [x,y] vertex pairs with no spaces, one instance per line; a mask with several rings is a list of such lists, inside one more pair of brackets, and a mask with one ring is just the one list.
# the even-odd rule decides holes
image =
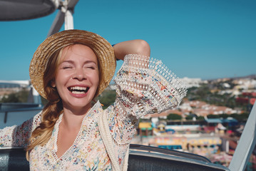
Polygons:
[[21,125],[6,127],[0,130],[0,147],[26,147],[32,131],[41,122],[41,113],[26,120]]

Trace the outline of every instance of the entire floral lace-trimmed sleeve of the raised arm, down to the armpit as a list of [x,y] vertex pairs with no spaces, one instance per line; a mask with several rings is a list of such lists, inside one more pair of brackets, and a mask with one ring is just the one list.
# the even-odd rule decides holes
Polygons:
[[115,82],[116,101],[107,112],[114,146],[118,150],[116,157],[122,165],[138,119],[148,113],[175,108],[187,90],[161,61],[138,55],[124,58]]

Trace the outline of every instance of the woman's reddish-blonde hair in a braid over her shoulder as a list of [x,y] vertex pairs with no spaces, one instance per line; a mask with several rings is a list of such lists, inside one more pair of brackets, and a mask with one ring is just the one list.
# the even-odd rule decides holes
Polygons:
[[49,58],[46,71],[43,74],[43,88],[48,103],[44,106],[41,113],[41,123],[29,138],[29,145],[26,148],[26,160],[29,160],[29,151],[36,147],[36,145],[45,145],[48,142],[51,138],[54,125],[63,111],[63,105],[58,91],[51,86],[56,76],[56,68],[58,67],[63,48],[54,52],[51,58]]

